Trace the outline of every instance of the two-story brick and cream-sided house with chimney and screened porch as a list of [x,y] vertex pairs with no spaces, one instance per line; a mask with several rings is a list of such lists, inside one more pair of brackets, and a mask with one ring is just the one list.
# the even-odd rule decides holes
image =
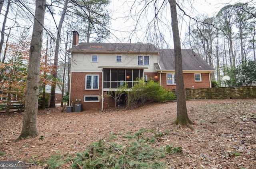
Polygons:
[[[124,82],[132,87],[137,78],[176,88],[174,49],[158,49],[150,43],[79,43],[79,34],[73,31],[68,52],[72,58],[70,103],[82,104],[83,110],[114,106],[106,92]],[[185,88],[210,88],[215,70],[192,49],[182,49],[182,58]]]

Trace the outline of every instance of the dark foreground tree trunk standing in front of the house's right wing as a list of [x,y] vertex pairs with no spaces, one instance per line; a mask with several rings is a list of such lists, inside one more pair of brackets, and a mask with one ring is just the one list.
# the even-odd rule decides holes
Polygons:
[[169,0],[171,7],[172,16],[172,34],[174,41],[174,55],[175,55],[175,76],[176,76],[176,86],[177,86],[177,119],[176,124],[188,125],[192,124],[188,118],[188,112],[186,107],[183,71],[182,71],[182,55],[180,46],[180,33],[178,28],[178,18],[176,10],[176,0]]

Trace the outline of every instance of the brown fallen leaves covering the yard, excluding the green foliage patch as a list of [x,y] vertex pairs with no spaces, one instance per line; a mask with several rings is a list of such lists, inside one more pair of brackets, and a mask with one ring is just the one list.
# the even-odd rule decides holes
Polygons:
[[146,128],[168,132],[156,146],[182,147],[183,156],[166,157],[171,169],[256,168],[256,99],[188,100],[186,104],[195,131],[173,125],[176,102],[104,112],[66,113],[51,108],[38,112],[38,136],[17,142],[23,113],[2,113],[0,160],[46,161],[56,151],[64,155],[82,152],[89,143],[108,140],[113,134],[117,137],[112,141],[125,143],[125,133]]

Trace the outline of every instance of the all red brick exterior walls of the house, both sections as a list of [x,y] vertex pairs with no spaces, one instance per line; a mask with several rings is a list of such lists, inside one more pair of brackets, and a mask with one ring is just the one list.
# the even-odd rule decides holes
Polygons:
[[[85,90],[85,78],[86,74],[99,75],[99,89],[98,90]],[[154,81],[160,81],[160,74],[158,73],[145,73],[148,75],[148,79],[152,78]],[[184,76],[184,86],[185,88],[209,88],[209,74],[202,73],[202,82],[195,82],[194,73],[185,73]],[[71,91],[70,91],[70,104],[73,101],[74,104],[82,104],[83,110],[97,109],[101,110],[101,95],[102,95],[102,73],[72,73],[71,76]],[[162,73],[162,86],[169,90],[176,89],[176,85],[166,85],[166,74]],[[114,99],[111,97],[106,97],[104,92],[104,102],[103,108],[109,108],[114,106]],[[100,96],[100,102],[84,102],[84,95],[96,95]],[[78,101],[76,101],[78,99]],[[81,100],[81,101],[79,101]]]

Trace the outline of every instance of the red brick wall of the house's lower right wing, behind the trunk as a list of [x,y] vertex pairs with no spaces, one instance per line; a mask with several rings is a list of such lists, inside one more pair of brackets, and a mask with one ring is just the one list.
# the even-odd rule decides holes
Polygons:
[[[196,82],[194,73],[184,73],[183,74],[183,79],[184,79],[184,87],[185,88],[210,88],[210,80],[209,80],[209,74],[208,73],[202,73],[201,82]],[[162,86],[164,88],[167,88],[169,90],[176,89],[176,85],[167,85],[167,80],[166,80],[166,74],[162,73]]]

